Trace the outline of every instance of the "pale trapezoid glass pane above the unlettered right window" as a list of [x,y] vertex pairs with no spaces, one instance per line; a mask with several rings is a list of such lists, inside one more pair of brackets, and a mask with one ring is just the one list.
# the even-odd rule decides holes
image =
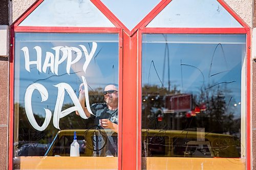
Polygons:
[[216,0],[173,0],[147,28],[242,28]]

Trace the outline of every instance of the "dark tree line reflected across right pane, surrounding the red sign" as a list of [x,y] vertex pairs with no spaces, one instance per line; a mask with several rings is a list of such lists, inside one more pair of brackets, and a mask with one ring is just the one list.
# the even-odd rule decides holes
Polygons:
[[[154,86],[142,87],[142,128],[196,130],[205,128],[206,132],[230,133],[238,135],[240,118],[234,118],[234,111],[229,102],[232,100],[231,91],[225,86],[215,86],[193,94],[193,112],[196,107],[205,105],[200,113],[187,116],[187,112],[162,113],[166,95],[180,94],[180,91],[168,91],[166,88]],[[161,114],[163,120],[157,116]],[[238,135],[239,136],[239,135]]]

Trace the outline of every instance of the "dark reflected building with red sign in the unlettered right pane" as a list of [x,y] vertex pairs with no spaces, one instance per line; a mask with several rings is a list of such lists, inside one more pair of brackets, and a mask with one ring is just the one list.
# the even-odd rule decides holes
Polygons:
[[143,128],[150,128],[148,123],[154,122],[155,126],[151,127],[153,129],[165,127],[166,129],[181,130],[185,113],[194,109],[191,94],[150,95],[147,96],[148,102],[146,102],[145,96],[142,99],[142,108],[145,110],[142,116],[147,116],[147,120],[150,119],[142,120]]

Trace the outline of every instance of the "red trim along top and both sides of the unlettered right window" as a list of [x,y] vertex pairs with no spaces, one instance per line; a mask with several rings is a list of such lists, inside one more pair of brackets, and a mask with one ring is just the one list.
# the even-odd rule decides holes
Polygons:
[[[141,99],[142,99],[142,33],[156,33],[156,34],[165,34],[165,33],[233,33],[233,34],[241,34],[244,33],[244,28],[238,29],[236,31],[233,29],[227,29],[226,31],[218,31],[216,29],[207,29],[205,32],[201,29],[159,29],[159,28],[151,28],[143,30],[138,30],[138,169],[141,169]],[[169,31],[171,30],[171,31]],[[230,32],[231,31],[231,32]],[[251,169],[251,33],[250,29],[248,29],[245,33],[247,33],[246,39],[246,47],[247,47],[247,58],[246,58],[246,169]]]

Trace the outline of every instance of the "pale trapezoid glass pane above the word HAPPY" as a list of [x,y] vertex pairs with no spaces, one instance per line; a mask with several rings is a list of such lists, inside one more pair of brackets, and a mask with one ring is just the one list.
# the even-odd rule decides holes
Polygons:
[[89,0],[44,0],[19,26],[115,27]]

